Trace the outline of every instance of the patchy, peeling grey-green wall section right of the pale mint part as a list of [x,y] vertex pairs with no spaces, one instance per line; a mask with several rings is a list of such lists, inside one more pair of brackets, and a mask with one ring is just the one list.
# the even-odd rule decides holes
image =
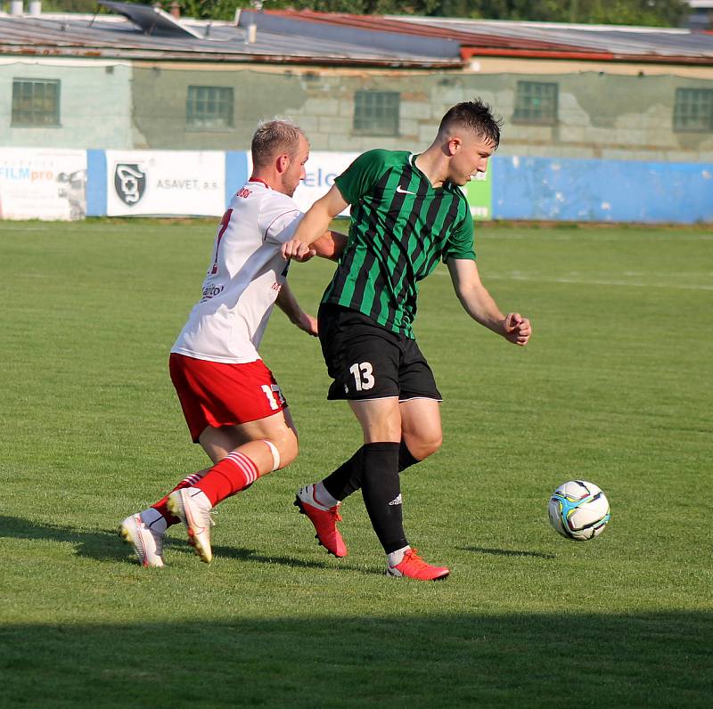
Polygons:
[[[676,88],[713,90],[713,69],[684,71],[679,76],[624,65],[624,72],[612,73],[611,65],[571,62],[568,66],[553,61],[546,62],[545,68],[519,61],[504,69],[498,70],[495,62],[487,70],[479,66],[478,71],[464,72],[136,66],[134,144],[136,148],[245,150],[258,121],[290,117],[307,131],[314,150],[420,150],[430,143],[450,106],[480,96],[504,117],[500,154],[672,162],[713,159],[713,133],[673,129]],[[513,120],[519,81],[557,84],[554,125]],[[192,85],[233,87],[232,130],[186,129],[186,94]],[[355,132],[354,96],[359,90],[400,94],[397,135]]]

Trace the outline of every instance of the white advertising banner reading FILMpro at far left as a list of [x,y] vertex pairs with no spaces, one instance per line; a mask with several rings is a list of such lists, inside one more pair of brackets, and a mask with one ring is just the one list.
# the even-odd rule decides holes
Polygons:
[[0,218],[86,216],[86,151],[0,149]]

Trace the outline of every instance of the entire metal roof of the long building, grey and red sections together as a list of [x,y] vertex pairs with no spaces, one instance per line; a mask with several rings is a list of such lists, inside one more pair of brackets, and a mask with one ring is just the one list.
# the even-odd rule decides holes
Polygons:
[[690,29],[291,10],[243,10],[236,24],[106,4],[134,21],[0,13],[0,54],[418,69],[460,68],[478,56],[713,65],[713,33]]

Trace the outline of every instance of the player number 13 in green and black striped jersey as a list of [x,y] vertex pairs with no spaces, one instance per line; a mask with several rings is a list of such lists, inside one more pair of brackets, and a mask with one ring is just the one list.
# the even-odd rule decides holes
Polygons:
[[283,255],[307,260],[334,216],[351,205],[346,247],[319,310],[319,336],[333,379],[328,398],[346,399],[365,444],[340,468],[301,488],[295,504],[336,556],[347,548],[337,529],[340,503],[361,487],[387,555],[387,574],[445,578],[406,541],[398,474],[441,444],[441,401],[412,325],[419,281],[442,259],[472,319],[525,346],[530,323],[504,315],[479,278],[473,224],[460,187],[485,172],[500,142],[500,122],[487,104],[463,102],[447,111],[421,154],[369,151],[316,201]]

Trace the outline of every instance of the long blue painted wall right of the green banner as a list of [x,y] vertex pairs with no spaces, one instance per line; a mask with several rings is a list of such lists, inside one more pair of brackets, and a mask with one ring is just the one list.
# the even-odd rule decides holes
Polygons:
[[496,157],[493,217],[711,223],[713,164]]

